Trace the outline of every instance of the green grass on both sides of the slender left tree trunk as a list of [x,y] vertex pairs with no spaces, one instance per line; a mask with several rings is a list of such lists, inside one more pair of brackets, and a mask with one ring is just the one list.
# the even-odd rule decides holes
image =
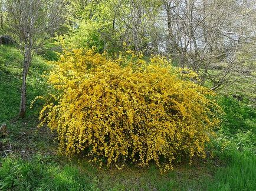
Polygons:
[[[1,108],[0,123],[10,120],[18,115],[20,89],[22,79],[23,57],[17,49],[12,46],[0,46],[0,104]],[[32,60],[27,76],[27,95],[28,103],[35,96],[44,95],[47,85],[42,78],[42,73],[50,68],[40,57]],[[37,110],[28,110],[28,116],[37,113]]]

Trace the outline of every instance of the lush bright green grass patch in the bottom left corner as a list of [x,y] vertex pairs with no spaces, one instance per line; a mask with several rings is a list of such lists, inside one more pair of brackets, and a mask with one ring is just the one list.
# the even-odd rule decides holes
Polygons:
[[90,177],[81,175],[77,166],[53,162],[42,155],[30,160],[6,158],[0,178],[1,190],[87,190],[94,186]]

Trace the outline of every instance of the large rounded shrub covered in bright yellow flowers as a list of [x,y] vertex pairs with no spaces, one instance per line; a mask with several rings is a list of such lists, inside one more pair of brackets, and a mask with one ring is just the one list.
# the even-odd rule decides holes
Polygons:
[[184,80],[160,56],[142,57],[113,60],[75,49],[55,62],[48,82],[58,93],[40,119],[57,131],[61,153],[107,165],[154,161],[162,169],[172,169],[179,156],[205,156],[219,122],[208,99],[213,92]]

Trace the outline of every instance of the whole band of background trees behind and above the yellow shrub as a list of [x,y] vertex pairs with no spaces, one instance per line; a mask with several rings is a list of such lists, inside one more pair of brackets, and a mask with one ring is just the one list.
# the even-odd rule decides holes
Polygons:
[[[71,48],[161,54],[221,90],[254,86],[256,2],[225,0],[69,0]],[[118,55],[118,53],[117,53]],[[252,88],[253,89],[253,88]],[[233,91],[233,90],[232,90]]]

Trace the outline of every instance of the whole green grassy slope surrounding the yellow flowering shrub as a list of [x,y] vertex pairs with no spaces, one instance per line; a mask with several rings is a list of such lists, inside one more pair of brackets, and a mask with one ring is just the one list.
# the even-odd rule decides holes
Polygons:
[[[231,98],[220,98],[228,115],[209,149],[214,158],[193,166],[177,165],[160,175],[154,165],[139,169],[98,169],[86,160],[57,155],[57,144],[46,128],[37,129],[40,103],[15,119],[19,109],[22,56],[0,46],[0,123],[8,136],[0,138],[0,190],[255,190],[256,111]],[[34,58],[28,76],[28,102],[43,95],[41,74],[49,66]],[[11,151],[10,151],[11,150]]]

